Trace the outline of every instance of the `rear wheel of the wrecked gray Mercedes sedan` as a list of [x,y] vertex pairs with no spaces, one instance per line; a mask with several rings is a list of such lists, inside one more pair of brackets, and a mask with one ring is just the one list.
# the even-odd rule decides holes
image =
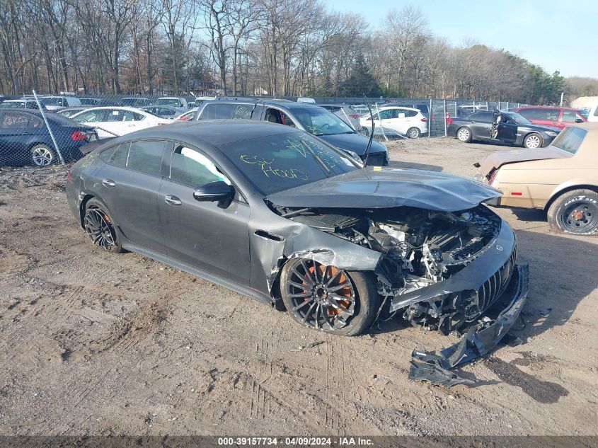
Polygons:
[[87,236],[100,248],[112,253],[123,253],[116,224],[106,211],[105,205],[92,197],[85,205],[83,226]]

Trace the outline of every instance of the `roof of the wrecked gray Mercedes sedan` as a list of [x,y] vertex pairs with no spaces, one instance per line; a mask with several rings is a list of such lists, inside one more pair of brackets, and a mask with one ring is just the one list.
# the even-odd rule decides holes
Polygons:
[[184,140],[188,143],[197,142],[197,144],[207,143],[218,146],[238,140],[293,132],[303,131],[294,127],[255,120],[199,120],[149,127],[146,130],[126,134],[124,137],[129,137],[127,140],[145,138]]

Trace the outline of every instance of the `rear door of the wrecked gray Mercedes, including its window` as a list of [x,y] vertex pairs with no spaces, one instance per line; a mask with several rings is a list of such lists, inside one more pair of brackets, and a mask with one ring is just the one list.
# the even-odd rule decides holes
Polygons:
[[125,238],[155,253],[166,253],[158,215],[164,140],[137,140],[103,151],[107,163],[96,176],[100,198]]

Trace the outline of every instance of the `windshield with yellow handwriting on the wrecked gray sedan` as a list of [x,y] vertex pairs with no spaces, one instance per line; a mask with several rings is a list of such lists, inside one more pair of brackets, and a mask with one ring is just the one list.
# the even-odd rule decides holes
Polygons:
[[304,132],[241,140],[220,149],[265,196],[360,169],[349,156]]

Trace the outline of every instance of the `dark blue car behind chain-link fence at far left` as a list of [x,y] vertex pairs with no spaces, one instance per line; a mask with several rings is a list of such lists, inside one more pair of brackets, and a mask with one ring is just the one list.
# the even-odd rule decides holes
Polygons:
[[[93,127],[80,125],[55,113],[46,113],[48,124],[65,162],[81,159],[82,146],[97,139]],[[47,166],[59,161],[52,137],[37,110],[0,110],[0,165]]]

